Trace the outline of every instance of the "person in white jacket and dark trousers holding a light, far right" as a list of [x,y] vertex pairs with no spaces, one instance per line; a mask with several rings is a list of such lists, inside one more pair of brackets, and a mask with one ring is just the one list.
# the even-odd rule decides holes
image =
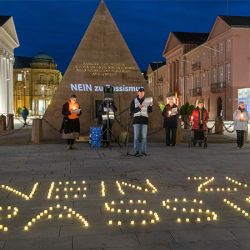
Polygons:
[[244,133],[248,130],[249,114],[245,108],[245,103],[240,102],[237,110],[233,114],[234,129],[237,133],[237,146],[242,148],[244,146]]

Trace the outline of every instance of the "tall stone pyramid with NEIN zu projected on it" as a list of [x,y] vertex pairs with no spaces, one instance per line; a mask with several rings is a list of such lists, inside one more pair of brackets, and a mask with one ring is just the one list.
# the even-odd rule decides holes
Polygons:
[[[60,137],[57,130],[62,124],[62,105],[72,93],[77,95],[82,108],[81,134],[88,135],[90,127],[96,124],[96,110],[103,100],[102,88],[107,84],[115,88],[117,113],[129,107],[138,87],[143,86],[146,96],[151,96],[134,57],[102,0],[44,115],[43,138]],[[114,133],[117,136],[125,131],[129,111],[118,119],[122,126],[115,124]],[[154,122],[150,122],[150,131],[162,126],[157,102],[154,103],[151,120]]]

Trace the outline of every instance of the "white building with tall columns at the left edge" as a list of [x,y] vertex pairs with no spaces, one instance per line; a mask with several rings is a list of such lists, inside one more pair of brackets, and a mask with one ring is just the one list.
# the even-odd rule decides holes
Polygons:
[[0,115],[13,114],[14,49],[19,41],[11,16],[0,16]]

